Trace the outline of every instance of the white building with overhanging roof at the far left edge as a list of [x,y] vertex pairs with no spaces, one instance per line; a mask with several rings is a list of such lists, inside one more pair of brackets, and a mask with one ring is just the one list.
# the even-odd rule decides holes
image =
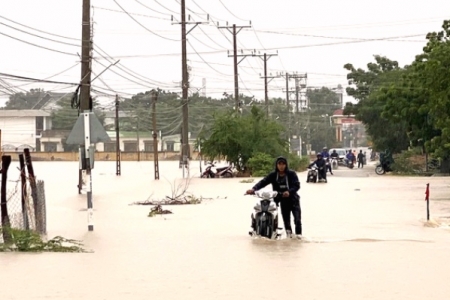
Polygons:
[[50,113],[37,109],[0,110],[3,151],[41,151],[42,132],[52,128]]

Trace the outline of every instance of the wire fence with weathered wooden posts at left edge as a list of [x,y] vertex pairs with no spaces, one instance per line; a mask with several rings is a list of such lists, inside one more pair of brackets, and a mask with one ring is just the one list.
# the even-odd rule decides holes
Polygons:
[[[7,222],[11,228],[33,230],[39,234],[47,234],[47,212],[45,199],[45,184],[38,180],[35,190],[30,178],[26,177],[23,184],[21,178],[8,181],[7,184]],[[1,225],[0,225],[1,227]],[[3,237],[0,234],[0,243]]]

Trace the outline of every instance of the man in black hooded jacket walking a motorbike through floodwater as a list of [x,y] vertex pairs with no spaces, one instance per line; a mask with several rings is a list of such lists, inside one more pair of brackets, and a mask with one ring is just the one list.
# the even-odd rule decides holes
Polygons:
[[[302,221],[301,221],[301,208],[300,208],[300,196],[298,190],[300,189],[300,182],[298,180],[297,173],[288,168],[287,159],[280,156],[275,161],[275,170],[270,172],[266,177],[260,180],[258,183],[248,190],[247,194],[254,194],[265,186],[271,184],[273,191],[278,192],[278,196],[275,198],[277,206],[281,203],[281,215],[283,217],[283,223],[288,238],[292,237],[291,227],[291,213],[294,216],[295,235],[298,239],[302,238]],[[252,228],[255,231],[256,224],[255,219],[252,217]]]

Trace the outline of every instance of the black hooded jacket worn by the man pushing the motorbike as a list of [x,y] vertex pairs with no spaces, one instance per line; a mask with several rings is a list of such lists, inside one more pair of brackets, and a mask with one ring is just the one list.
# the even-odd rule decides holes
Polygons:
[[280,191],[280,186],[278,184],[278,169],[277,169],[277,163],[280,160],[284,160],[286,162],[286,170],[285,176],[287,176],[287,185],[288,185],[288,191],[289,191],[289,198],[291,199],[300,199],[300,196],[297,194],[298,190],[300,189],[300,182],[298,180],[297,173],[295,171],[289,170],[287,160],[284,157],[278,157],[275,162],[275,170],[273,172],[270,172],[266,177],[261,179],[255,186],[253,187],[253,190],[257,191],[262,189],[263,187],[272,184],[272,189],[274,191]]

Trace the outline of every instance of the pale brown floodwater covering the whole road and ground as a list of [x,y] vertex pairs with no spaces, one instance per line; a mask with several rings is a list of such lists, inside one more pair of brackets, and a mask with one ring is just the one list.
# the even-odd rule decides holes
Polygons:
[[[149,218],[149,206],[129,204],[170,196],[182,174],[178,162],[160,162],[158,182],[152,162],[122,162],[121,176],[115,162],[96,162],[95,227],[88,232],[78,164],[34,167],[45,180],[49,238],[79,239],[93,252],[0,254],[2,300],[450,297],[445,177],[377,176],[372,167],[339,169],[328,184],[306,184],[299,173],[305,240],[267,241],[247,235],[256,198],[243,196],[253,184],[239,178],[193,178],[189,191],[213,199],[166,206],[173,214]],[[198,175],[198,161],[191,168]]]

